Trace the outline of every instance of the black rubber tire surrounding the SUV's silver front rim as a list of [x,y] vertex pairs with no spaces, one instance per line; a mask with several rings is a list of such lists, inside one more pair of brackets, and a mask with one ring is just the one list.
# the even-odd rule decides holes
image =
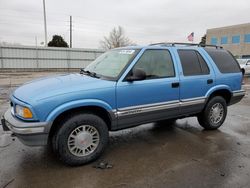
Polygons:
[[[91,153],[86,156],[77,156],[72,153],[73,151],[70,151],[70,146],[68,146],[68,139],[69,136],[73,133],[73,131],[75,131],[77,128],[83,129],[82,125],[89,126],[93,128],[96,132],[98,132],[99,141],[98,144],[96,144],[96,148],[93,149]],[[91,133],[89,133],[89,135],[91,135]],[[93,140],[93,137],[91,140]],[[60,128],[52,137],[52,147],[56,155],[63,163],[68,164],[70,166],[77,166],[89,163],[97,159],[103,153],[105,147],[107,146],[108,140],[108,127],[103,121],[103,119],[91,113],[83,113],[69,116],[61,122]],[[85,141],[86,140],[83,140],[81,142],[84,143]],[[87,149],[82,149],[82,151],[83,150],[84,152],[86,152]]]

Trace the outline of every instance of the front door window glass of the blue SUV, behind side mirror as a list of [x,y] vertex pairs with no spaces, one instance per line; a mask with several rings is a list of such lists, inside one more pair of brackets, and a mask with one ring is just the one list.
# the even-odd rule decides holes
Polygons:
[[133,69],[146,72],[147,79],[174,77],[174,64],[168,50],[146,50]]

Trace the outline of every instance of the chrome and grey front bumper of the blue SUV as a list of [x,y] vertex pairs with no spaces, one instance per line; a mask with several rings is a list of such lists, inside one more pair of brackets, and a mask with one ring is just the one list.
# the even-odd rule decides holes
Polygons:
[[41,146],[48,142],[48,122],[23,122],[15,118],[8,109],[1,119],[3,130],[13,132],[25,145]]

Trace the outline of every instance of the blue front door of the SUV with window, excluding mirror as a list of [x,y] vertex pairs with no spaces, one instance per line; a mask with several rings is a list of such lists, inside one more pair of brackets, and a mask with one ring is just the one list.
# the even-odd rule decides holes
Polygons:
[[117,117],[125,128],[179,114],[179,77],[167,49],[145,50],[132,70],[142,69],[146,79],[117,83]]

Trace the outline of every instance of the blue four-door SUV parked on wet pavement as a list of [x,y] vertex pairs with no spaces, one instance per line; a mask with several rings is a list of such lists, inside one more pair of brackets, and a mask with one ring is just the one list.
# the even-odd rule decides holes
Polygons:
[[17,88],[2,118],[26,145],[51,144],[59,159],[98,158],[109,131],[196,116],[219,128],[227,106],[245,95],[242,73],[218,46],[159,43],[110,50],[80,74],[38,79]]

